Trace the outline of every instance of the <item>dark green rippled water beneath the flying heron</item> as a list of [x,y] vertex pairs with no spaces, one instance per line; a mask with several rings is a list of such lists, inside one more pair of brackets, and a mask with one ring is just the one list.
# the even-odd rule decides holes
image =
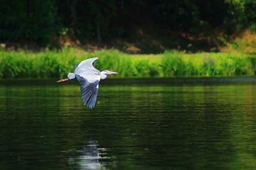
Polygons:
[[256,169],[255,81],[1,80],[0,169]]

